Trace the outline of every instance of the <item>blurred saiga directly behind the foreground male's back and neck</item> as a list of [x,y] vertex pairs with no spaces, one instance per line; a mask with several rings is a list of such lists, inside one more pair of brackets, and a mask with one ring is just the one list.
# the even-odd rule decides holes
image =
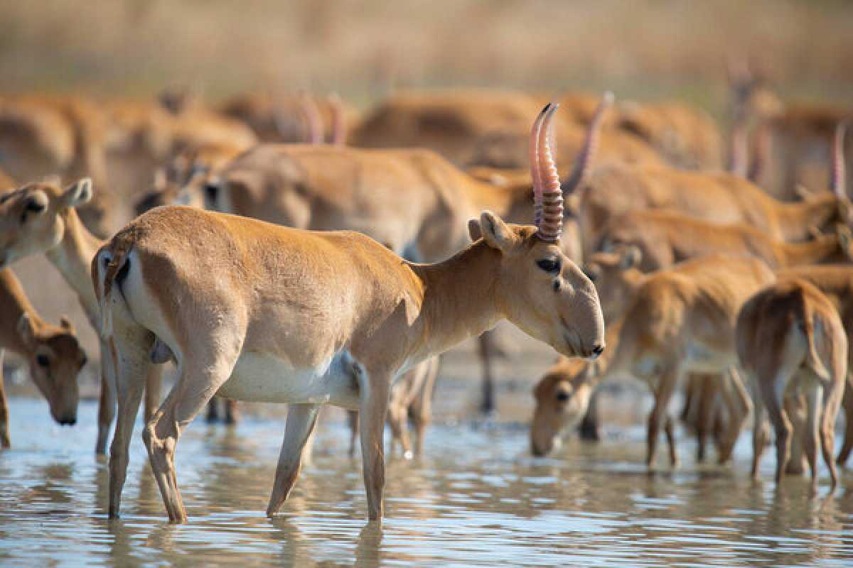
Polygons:
[[[563,183],[583,181],[598,146],[601,119],[612,103],[605,95],[589,125],[577,162]],[[461,172],[427,150],[261,145],[228,164],[206,186],[214,209],[312,230],[364,232],[410,260],[439,261],[467,243],[466,222],[482,209],[514,223],[531,221],[530,175],[494,186]],[[579,257],[576,225],[566,223],[567,255]],[[482,353],[492,348],[481,342]],[[495,408],[485,358],[483,405]]]

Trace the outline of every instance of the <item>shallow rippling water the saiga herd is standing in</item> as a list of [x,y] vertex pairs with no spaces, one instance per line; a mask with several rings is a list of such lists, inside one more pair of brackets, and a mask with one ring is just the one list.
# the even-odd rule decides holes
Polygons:
[[[283,420],[197,422],[176,460],[189,523],[169,525],[140,422],[123,516],[111,522],[106,464],[91,454],[95,404],[81,404],[73,428],[49,423],[41,400],[11,399],[10,410],[14,448],[0,452],[3,566],[853,562],[853,491],[809,500],[807,482],[788,479],[777,492],[772,452],[753,483],[746,435],[734,467],[697,466],[682,441],[681,468],[649,475],[641,427],[609,432],[599,445],[570,441],[554,458],[533,460],[522,425],[443,420],[428,430],[424,458],[389,459],[379,529],[364,520],[360,463],[346,457],[340,414],[322,420],[314,463],[272,520],[264,509]],[[853,489],[850,472],[845,485]]]

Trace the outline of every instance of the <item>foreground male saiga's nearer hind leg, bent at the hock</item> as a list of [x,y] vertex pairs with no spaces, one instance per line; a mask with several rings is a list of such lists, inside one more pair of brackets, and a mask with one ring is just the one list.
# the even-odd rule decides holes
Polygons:
[[175,476],[177,439],[219,387],[228,381],[244,336],[241,330],[223,328],[211,336],[196,336],[192,346],[195,348],[188,347],[183,356],[178,357],[180,372],[175,386],[142,432],[154,479],[173,523],[187,519]]

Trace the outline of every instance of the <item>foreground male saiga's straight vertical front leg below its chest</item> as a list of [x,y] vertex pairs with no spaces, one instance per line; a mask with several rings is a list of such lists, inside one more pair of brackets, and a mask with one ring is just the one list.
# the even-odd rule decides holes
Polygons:
[[391,377],[385,373],[368,373],[355,364],[355,374],[362,393],[359,410],[362,439],[364,489],[368,496],[368,519],[382,519],[382,491],[385,489],[385,446],[382,439],[388,414],[388,391]]

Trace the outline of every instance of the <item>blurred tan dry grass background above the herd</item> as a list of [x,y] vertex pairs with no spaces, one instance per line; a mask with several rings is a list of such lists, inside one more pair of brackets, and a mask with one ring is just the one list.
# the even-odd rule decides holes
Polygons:
[[729,55],[786,94],[853,93],[841,0],[40,0],[0,3],[3,91],[148,96],[200,85],[336,90],[614,89],[722,104]]

